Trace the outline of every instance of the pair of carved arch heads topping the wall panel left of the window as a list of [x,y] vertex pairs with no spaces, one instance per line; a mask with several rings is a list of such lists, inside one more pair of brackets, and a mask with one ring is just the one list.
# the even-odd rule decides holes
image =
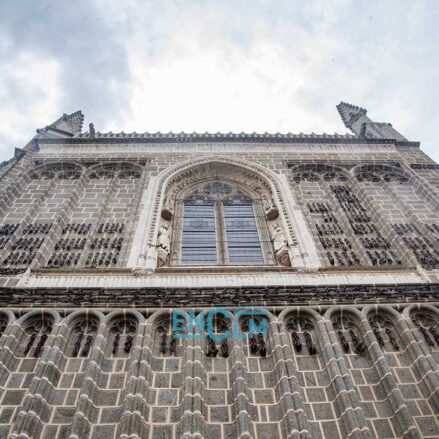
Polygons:
[[112,162],[99,163],[90,168],[84,168],[80,163],[60,162],[49,163],[36,167],[31,178],[35,180],[76,180],[82,173],[86,173],[91,179],[134,179],[140,178],[143,167],[135,163]]

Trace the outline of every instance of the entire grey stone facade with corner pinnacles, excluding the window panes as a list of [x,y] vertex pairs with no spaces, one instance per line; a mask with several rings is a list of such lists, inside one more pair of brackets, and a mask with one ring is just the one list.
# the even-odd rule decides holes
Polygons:
[[[337,108],[352,135],[82,132],[76,112],[17,149],[0,438],[439,437],[439,165]],[[211,181],[253,194],[264,264],[179,262],[182,194]],[[176,310],[215,307],[223,341],[176,337]],[[232,335],[249,309],[266,336]]]

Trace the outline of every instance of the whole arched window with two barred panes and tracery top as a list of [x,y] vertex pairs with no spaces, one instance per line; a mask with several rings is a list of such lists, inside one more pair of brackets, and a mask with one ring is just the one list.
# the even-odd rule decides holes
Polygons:
[[260,201],[232,183],[204,183],[177,200],[172,265],[273,263]]

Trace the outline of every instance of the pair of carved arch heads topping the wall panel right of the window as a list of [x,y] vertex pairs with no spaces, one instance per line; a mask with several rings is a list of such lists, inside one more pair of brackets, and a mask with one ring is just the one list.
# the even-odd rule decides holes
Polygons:
[[358,181],[406,183],[410,176],[399,167],[379,164],[357,165],[344,169],[329,164],[302,164],[291,167],[293,180],[301,181],[348,181],[351,177]]

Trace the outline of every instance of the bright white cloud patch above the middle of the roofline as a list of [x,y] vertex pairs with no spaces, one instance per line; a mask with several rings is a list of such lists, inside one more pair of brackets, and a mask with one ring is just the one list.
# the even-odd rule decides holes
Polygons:
[[151,30],[159,38],[152,58],[144,31],[131,36],[129,105],[111,120],[112,129],[344,131],[334,109],[338,96],[329,117],[313,101],[324,92],[321,66],[343,49],[328,35],[283,20],[273,29],[263,17],[234,15],[225,4],[201,15],[181,11],[165,36],[157,27],[171,24]]

